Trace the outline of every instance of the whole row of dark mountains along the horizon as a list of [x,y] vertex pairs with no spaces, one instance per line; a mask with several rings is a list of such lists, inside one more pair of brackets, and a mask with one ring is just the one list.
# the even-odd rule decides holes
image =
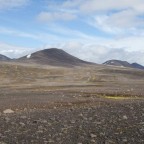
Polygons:
[[[35,53],[23,56],[18,59],[10,59],[4,55],[0,54],[0,61],[15,61],[15,62],[24,62],[24,63],[38,63],[44,65],[52,66],[81,66],[81,65],[96,65],[96,63],[91,63],[83,61],[77,57],[74,57],[64,50],[57,48],[50,48],[37,51]],[[129,67],[144,69],[144,66],[138,63],[128,63],[127,61],[121,60],[108,60],[103,63],[104,65],[119,66],[119,67]]]

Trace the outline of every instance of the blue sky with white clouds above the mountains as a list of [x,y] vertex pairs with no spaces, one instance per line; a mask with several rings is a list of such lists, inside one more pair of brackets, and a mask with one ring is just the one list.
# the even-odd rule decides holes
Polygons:
[[95,63],[144,65],[144,1],[0,0],[0,54],[46,48]]

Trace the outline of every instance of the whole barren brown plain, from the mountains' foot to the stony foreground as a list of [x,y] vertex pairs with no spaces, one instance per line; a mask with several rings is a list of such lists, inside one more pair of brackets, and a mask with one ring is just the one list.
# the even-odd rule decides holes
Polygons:
[[0,144],[143,144],[143,89],[142,70],[1,62]]

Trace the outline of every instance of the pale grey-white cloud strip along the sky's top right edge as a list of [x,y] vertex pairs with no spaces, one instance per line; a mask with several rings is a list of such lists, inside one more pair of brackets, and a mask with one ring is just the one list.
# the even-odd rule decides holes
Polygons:
[[79,8],[83,12],[97,12],[97,11],[111,11],[122,9],[134,9],[139,12],[144,11],[143,0],[83,0],[83,3],[79,5]]

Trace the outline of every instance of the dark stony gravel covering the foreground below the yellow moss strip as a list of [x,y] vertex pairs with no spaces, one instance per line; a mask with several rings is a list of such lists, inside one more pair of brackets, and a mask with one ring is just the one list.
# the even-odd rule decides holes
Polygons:
[[142,98],[60,103],[1,113],[0,144],[144,143]]

